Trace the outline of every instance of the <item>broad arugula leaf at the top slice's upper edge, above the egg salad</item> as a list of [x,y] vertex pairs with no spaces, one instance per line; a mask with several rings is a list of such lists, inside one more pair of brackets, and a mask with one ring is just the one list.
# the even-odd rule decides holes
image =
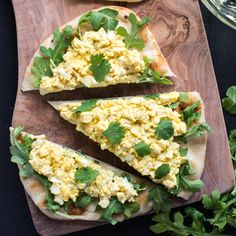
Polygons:
[[98,31],[101,28],[106,32],[115,30],[118,24],[118,20],[116,20],[117,15],[118,11],[110,8],[104,8],[99,11],[90,11],[80,18],[78,32],[80,33],[80,25],[86,22],[90,22],[95,31]]

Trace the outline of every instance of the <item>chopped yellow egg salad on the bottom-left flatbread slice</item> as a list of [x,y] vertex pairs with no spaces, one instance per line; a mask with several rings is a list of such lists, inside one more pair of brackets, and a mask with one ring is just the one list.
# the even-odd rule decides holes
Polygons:
[[[118,201],[124,203],[133,202],[138,195],[132,183],[126,178],[104,169],[80,153],[45,139],[33,142],[29,163],[36,172],[46,176],[52,183],[50,191],[55,196],[54,201],[60,205],[70,199],[75,202],[82,193],[99,198],[99,205],[103,208],[109,205],[111,197],[117,197]],[[80,168],[95,171],[97,173],[95,179],[91,182],[77,181],[75,175]]]

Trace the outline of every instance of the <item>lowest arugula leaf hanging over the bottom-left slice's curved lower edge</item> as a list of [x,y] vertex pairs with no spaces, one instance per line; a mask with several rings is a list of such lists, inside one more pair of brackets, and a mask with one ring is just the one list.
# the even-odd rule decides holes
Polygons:
[[122,213],[124,211],[124,207],[122,205],[122,203],[120,203],[117,198],[113,198],[108,207],[106,209],[104,209],[103,213],[102,213],[102,219],[111,223],[112,225],[115,225],[117,223],[117,221],[115,219],[113,219],[113,215],[114,214],[119,214]]

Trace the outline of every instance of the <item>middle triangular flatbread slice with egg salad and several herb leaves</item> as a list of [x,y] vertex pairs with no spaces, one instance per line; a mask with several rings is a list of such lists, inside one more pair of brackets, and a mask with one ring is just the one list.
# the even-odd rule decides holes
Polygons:
[[102,149],[172,194],[188,199],[203,186],[210,127],[197,92],[49,103]]

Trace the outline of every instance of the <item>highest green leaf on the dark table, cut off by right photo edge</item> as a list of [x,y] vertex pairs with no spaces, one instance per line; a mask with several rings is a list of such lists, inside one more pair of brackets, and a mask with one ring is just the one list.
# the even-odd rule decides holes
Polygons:
[[236,114],[236,86],[231,86],[226,92],[226,98],[222,99],[222,106],[230,114]]

